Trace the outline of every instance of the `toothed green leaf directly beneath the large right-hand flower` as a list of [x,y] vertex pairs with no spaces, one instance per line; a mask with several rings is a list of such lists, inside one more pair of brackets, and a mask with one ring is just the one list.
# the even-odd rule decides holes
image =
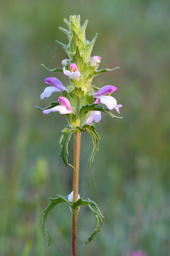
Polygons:
[[80,114],[87,113],[88,111],[101,111],[101,112],[108,114],[112,118],[118,118],[118,119],[123,118],[123,117],[115,116],[114,114],[112,114],[109,111],[108,108],[104,108],[103,106],[99,106],[98,104],[95,104],[95,103],[93,103],[91,105],[86,104],[86,105],[82,106],[82,108],[80,109]]

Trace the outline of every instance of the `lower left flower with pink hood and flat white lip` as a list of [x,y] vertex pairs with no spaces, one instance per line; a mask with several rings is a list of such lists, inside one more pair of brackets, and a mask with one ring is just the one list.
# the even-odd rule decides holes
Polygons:
[[43,113],[48,114],[50,112],[56,112],[56,111],[59,111],[60,114],[71,114],[72,113],[71,104],[67,98],[59,97],[58,101],[59,101],[60,105],[55,106],[54,108],[51,108],[51,109],[44,109]]

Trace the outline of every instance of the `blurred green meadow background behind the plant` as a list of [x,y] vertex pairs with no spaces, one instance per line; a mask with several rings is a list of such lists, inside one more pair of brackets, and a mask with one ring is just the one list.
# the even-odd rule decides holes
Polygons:
[[[101,137],[90,171],[91,137],[82,133],[79,194],[95,200],[105,219],[102,232],[83,247],[94,231],[95,217],[79,211],[78,255],[127,256],[143,249],[149,256],[170,255],[170,2],[168,0],[8,0],[0,3],[0,255],[71,255],[71,212],[59,204],[47,226],[41,223],[48,198],[72,191],[72,170],[59,158],[60,131],[67,125],[59,113],[44,115],[59,97],[40,100],[46,84],[62,73],[67,44],[58,27],[63,18],[80,14],[89,20],[86,37],[98,32],[92,56],[100,69],[120,67],[97,76],[93,84],[117,87],[120,116],[102,114]],[[112,111],[116,114],[115,110]],[[73,136],[72,136],[73,137]],[[74,139],[69,144],[72,162]]]

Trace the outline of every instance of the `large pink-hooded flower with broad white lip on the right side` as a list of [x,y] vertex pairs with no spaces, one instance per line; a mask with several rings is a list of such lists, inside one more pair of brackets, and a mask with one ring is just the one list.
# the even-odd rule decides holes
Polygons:
[[[94,103],[99,103],[99,99],[100,99],[100,102],[105,104],[108,109],[115,109],[119,113],[119,108],[121,108],[122,105],[121,104],[117,105],[116,99],[110,96],[110,94],[116,90],[117,88],[115,86],[111,86],[111,85],[103,86],[98,92],[94,93],[94,97],[97,98]],[[109,95],[107,96],[104,94],[109,94]]]

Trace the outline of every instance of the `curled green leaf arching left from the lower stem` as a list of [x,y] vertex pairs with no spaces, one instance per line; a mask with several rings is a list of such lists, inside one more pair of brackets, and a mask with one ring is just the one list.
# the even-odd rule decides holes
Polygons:
[[52,208],[54,208],[54,206],[56,206],[58,203],[61,203],[61,202],[71,205],[70,202],[67,200],[67,196],[58,195],[56,198],[50,198],[50,201],[51,201],[50,204],[48,204],[47,208],[43,211],[44,214],[43,214],[43,219],[42,219],[42,223],[41,223],[41,225],[44,228],[46,238],[48,240],[47,246],[50,245],[50,243],[52,241],[50,233],[48,232],[47,227],[46,227],[46,219],[47,219],[49,212],[52,210]]

